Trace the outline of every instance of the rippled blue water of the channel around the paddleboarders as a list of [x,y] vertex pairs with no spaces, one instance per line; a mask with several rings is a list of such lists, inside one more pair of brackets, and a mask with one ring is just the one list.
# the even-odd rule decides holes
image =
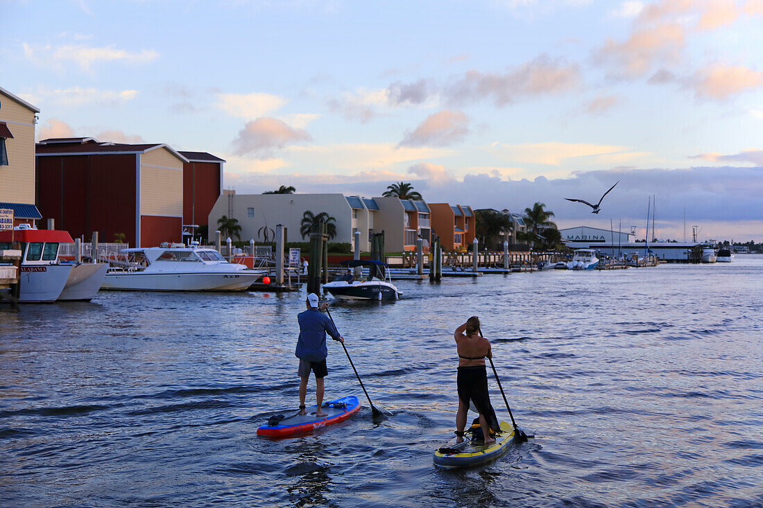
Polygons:
[[[332,314],[375,406],[310,436],[256,427],[298,405],[304,294],[101,293],[0,307],[2,506],[761,506],[763,256],[731,265],[400,281]],[[483,320],[535,439],[465,471],[452,330]],[[329,342],[327,400],[362,397]],[[308,389],[308,403],[314,382]],[[491,397],[507,419],[491,380]]]

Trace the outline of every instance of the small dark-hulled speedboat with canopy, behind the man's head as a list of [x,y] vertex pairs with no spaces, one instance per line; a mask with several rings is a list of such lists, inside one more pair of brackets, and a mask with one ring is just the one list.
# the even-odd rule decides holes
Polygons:
[[[397,300],[401,295],[392,284],[387,263],[351,259],[340,262],[340,266],[346,267],[348,273],[324,284],[324,291],[328,291],[337,300]],[[352,268],[358,266],[369,268],[369,278],[354,278]]]

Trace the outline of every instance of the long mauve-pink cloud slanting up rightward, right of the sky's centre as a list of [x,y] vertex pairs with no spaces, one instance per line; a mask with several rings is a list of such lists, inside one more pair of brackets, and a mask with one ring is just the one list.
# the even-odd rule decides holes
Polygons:
[[538,56],[504,73],[468,71],[447,86],[444,94],[455,104],[491,98],[497,106],[504,106],[521,97],[565,92],[575,88],[579,80],[576,64]]

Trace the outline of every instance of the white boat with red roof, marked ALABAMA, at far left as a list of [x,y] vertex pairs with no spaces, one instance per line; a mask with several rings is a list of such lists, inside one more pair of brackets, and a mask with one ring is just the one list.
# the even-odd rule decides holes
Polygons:
[[12,242],[21,245],[19,302],[56,301],[72,271],[72,265],[60,262],[58,249],[73,241],[66,231],[37,230],[28,224],[0,231],[0,250],[11,249]]

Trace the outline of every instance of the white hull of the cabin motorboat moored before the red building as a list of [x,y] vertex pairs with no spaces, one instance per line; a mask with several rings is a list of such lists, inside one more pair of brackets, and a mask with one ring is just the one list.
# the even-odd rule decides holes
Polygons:
[[120,291],[246,291],[261,272],[109,272],[101,289]]

